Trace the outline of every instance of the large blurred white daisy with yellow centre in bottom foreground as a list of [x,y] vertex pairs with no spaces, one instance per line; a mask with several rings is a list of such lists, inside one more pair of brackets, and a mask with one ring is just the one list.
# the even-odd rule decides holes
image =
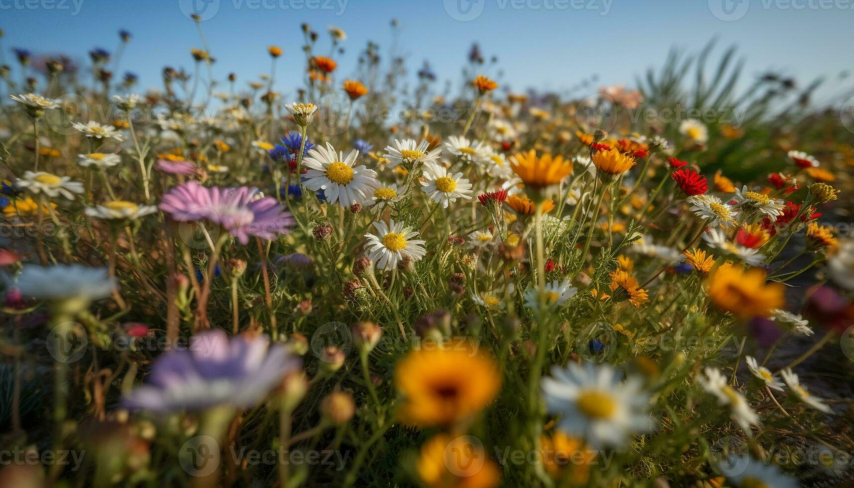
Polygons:
[[560,415],[557,428],[595,448],[622,447],[635,433],[651,430],[642,385],[636,377],[623,381],[623,373],[608,364],[589,362],[555,366],[552,377],[541,380],[548,412]]

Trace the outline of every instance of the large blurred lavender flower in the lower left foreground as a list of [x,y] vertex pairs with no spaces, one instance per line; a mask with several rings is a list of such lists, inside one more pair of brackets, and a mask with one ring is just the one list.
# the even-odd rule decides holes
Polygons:
[[157,358],[149,383],[134,389],[123,406],[158,412],[252,407],[301,367],[284,345],[269,344],[266,336],[229,338],[219,329],[194,336],[189,350]]

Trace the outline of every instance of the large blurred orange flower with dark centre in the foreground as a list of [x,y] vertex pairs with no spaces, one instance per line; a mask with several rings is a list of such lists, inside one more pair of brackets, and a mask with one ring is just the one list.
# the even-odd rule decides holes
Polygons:
[[401,420],[422,427],[451,424],[477,414],[498,395],[495,362],[462,345],[413,350],[397,364],[395,385],[406,397]]

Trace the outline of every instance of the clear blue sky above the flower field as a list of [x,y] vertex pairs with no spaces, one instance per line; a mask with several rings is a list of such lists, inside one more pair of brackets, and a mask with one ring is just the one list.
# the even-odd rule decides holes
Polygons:
[[[835,80],[854,66],[854,9],[839,9],[854,0],[831,0],[832,9],[818,8],[820,0],[0,0],[6,32],[0,42],[7,62],[15,46],[85,59],[95,46],[114,50],[116,32],[126,28],[133,39],[120,71],[132,70],[142,85],[156,86],[164,65],[190,69],[189,50],[201,47],[184,15],[193,1],[206,6],[200,11],[210,17],[202,27],[218,59],[214,76],[233,71],[245,82],[265,73],[266,46],[278,44],[285,55],[276,89],[286,94],[301,76],[301,22],[323,34],[323,50],[329,42],[325,26],[348,33],[341,76],[352,73],[369,39],[387,55],[389,21],[396,18],[400,51],[412,73],[429,59],[441,79],[456,81],[477,41],[484,55],[498,56],[503,85],[515,91],[567,88],[593,73],[601,83],[632,85],[635,74],[659,66],[670,47],[696,50],[713,37],[722,47],[739,46],[748,76],[779,68],[805,85],[822,74]],[[722,2],[740,18],[713,15]],[[838,93],[839,86],[834,81],[823,93]]]

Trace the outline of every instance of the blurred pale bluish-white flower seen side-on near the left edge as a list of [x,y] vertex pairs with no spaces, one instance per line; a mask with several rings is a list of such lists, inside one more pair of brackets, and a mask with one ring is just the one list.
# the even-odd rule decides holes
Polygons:
[[20,272],[16,286],[25,297],[89,302],[109,297],[117,282],[108,276],[106,268],[79,264],[28,265]]

